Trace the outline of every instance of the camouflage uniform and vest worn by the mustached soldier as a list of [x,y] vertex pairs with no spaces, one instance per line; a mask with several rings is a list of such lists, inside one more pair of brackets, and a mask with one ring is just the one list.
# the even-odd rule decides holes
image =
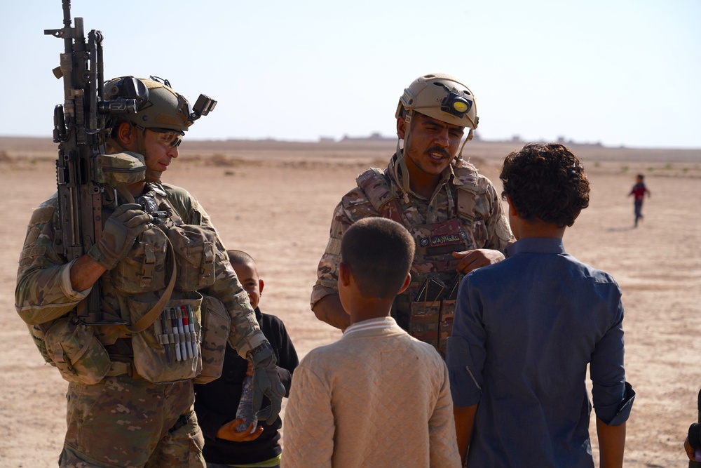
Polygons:
[[[402,190],[397,156],[381,172],[370,169],[336,206],[326,250],[319,262],[311,305],[338,293],[341,237],[353,222],[383,216],[400,222],[414,236],[411,285],[397,296],[392,315],[419,340],[444,353],[451,332],[454,295],[461,279],[452,252],[503,250],[514,241],[501,200],[489,179],[461,159],[451,163],[430,200]],[[437,289],[428,287],[433,283]],[[427,286],[424,288],[423,286]]]

